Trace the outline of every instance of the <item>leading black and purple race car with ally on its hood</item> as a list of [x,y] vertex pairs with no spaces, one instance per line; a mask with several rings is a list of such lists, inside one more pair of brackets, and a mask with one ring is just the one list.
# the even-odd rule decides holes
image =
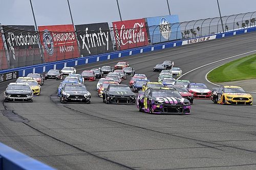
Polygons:
[[136,105],[141,112],[190,114],[190,102],[174,88],[148,88],[143,94],[138,94]]

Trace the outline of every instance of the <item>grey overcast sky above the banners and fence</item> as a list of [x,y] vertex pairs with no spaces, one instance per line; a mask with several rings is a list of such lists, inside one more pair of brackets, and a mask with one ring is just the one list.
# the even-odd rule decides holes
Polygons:
[[[118,21],[116,0],[69,0],[74,24]],[[166,0],[118,0],[123,20],[168,15]],[[256,11],[256,1],[219,0],[222,15]],[[32,0],[38,26],[72,23],[67,0]],[[219,16],[217,0],[169,0],[180,21]],[[29,0],[0,0],[2,25],[34,25]]]

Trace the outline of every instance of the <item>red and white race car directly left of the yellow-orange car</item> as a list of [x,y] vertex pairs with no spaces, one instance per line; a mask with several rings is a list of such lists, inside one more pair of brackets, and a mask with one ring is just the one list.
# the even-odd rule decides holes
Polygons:
[[210,99],[211,90],[203,83],[189,83],[187,89],[193,94],[194,99]]

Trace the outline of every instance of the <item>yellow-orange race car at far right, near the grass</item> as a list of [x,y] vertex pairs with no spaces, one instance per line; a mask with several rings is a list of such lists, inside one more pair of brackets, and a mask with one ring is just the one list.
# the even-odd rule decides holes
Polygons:
[[212,90],[211,100],[223,105],[252,105],[252,96],[239,86],[220,86]]

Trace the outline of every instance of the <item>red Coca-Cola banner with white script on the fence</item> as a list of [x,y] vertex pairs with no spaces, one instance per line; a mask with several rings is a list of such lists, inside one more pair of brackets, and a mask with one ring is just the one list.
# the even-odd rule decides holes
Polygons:
[[117,50],[148,45],[145,19],[112,22]]

